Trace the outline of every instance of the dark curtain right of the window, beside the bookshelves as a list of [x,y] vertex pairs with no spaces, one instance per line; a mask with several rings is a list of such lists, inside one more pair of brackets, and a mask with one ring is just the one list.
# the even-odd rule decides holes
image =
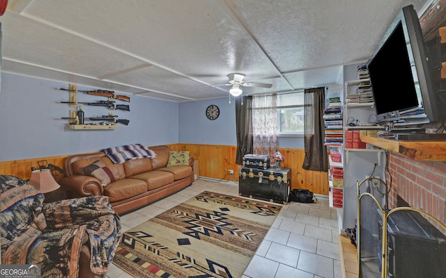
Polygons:
[[314,171],[328,171],[327,147],[324,145],[325,132],[323,111],[325,88],[305,89],[304,142],[305,158],[302,168]]

